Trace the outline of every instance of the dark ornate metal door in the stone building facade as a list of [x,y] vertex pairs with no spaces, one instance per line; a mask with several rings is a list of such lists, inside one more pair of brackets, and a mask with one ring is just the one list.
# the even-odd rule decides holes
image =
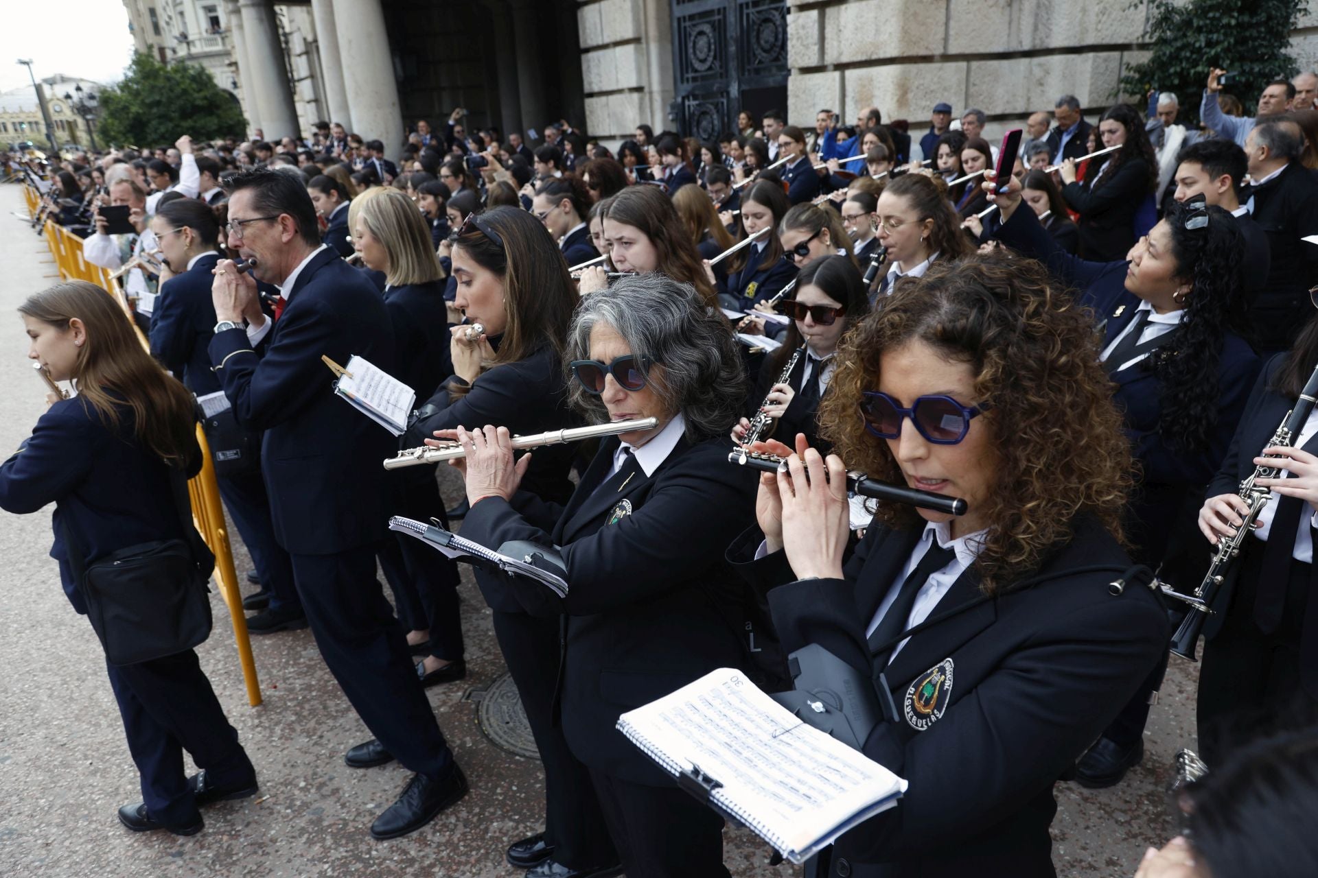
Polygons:
[[[784,0],[671,0],[677,121],[713,141],[734,130],[746,92],[787,97]],[[760,113],[770,107],[746,107]],[[786,105],[778,109],[786,112]],[[758,121],[758,117],[757,117]]]

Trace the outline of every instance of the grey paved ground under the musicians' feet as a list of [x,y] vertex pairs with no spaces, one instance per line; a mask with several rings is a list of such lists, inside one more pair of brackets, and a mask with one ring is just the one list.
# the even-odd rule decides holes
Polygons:
[[[20,192],[0,187],[0,449],[12,449],[43,411],[43,388],[24,359],[13,308],[57,282],[42,238],[9,215]],[[453,486],[447,486],[453,487]],[[424,831],[376,842],[366,829],[406,782],[397,765],[353,771],[344,749],[365,740],[361,721],[331,679],[308,632],[253,638],[265,703],[249,707],[224,606],[198,652],[229,720],[260,773],[256,799],[206,812],[191,839],[134,835],[115,810],[140,798],[101,653],[87,621],[61,592],[46,512],[0,512],[0,875],[119,878],[140,875],[515,875],[503,846],[538,831],[539,765],[496,748],[476,723],[472,690],[503,674],[474,584],[461,588],[467,681],[430,699],[472,792]],[[240,549],[241,555],[241,549]],[[239,558],[239,570],[248,569]],[[1176,662],[1153,710],[1143,766],[1116,790],[1060,785],[1053,825],[1062,875],[1132,875],[1144,848],[1170,832],[1162,790],[1177,748],[1193,744],[1194,681]],[[726,861],[737,878],[796,874],[767,866],[767,849],[729,831]]]

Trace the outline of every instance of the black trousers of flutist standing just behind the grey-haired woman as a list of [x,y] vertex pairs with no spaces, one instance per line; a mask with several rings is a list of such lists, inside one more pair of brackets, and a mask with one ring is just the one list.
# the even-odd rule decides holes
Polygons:
[[544,765],[544,841],[572,869],[618,862],[590,773],[568,749],[554,720],[560,620],[494,611],[494,636]]

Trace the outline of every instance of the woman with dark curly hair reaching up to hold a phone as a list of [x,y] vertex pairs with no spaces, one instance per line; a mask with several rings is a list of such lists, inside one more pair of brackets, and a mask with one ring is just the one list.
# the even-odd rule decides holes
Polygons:
[[[990,172],[991,174],[991,172]],[[1132,555],[1182,590],[1199,584],[1209,554],[1194,530],[1203,486],[1227,454],[1259,358],[1246,341],[1244,238],[1235,219],[1202,197],[1173,203],[1130,261],[1086,262],[1062,250],[1020,183],[996,195],[1003,244],[1045,262],[1103,321],[1101,358],[1140,465],[1127,511]],[[1149,692],[1164,665],[1081,760],[1079,783],[1118,783],[1144,753]]]

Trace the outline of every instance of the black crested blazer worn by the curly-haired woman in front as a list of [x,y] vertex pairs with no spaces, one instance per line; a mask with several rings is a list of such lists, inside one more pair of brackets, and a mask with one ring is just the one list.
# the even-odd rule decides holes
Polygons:
[[[1053,785],[1157,663],[1170,636],[1166,616],[1143,586],[1108,591],[1130,558],[1097,523],[1081,520],[1070,542],[1044,561],[1040,574],[1052,578],[934,623],[879,667],[865,629],[919,537],[870,528],[845,579],[792,582],[783,552],[753,561],[758,528],[729,549],[747,582],[767,592],[784,653],[820,644],[875,688],[886,682],[898,710],[862,749],[911,787],[895,808],[838,839],[833,864],[845,860],[857,878],[1052,878]],[[1090,565],[1106,570],[1070,573]],[[975,600],[978,584],[971,567],[929,619]],[[940,665],[952,671],[946,700],[923,717],[929,724],[921,732],[905,716],[921,719],[913,695]]]

